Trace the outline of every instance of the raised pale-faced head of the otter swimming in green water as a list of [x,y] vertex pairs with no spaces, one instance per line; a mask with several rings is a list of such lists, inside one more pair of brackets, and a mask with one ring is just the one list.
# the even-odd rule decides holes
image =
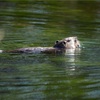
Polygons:
[[56,41],[54,48],[59,49],[75,49],[80,48],[80,42],[77,37],[68,37],[60,41]]

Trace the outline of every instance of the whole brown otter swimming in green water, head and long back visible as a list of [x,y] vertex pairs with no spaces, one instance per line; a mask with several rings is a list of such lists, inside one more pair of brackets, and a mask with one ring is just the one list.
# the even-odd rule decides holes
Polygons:
[[63,53],[69,49],[80,48],[80,41],[77,37],[67,37],[62,40],[56,41],[53,47],[27,47],[19,48],[11,51],[0,51],[0,52],[11,52],[11,53]]

